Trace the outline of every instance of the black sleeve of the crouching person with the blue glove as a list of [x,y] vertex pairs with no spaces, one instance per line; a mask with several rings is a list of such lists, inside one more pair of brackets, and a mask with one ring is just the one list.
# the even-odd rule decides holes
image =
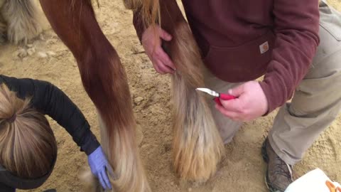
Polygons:
[[32,107],[47,114],[64,127],[85,154],[89,155],[97,149],[99,142],[92,134],[87,119],[58,87],[50,82],[9,78],[4,75],[1,75],[1,80],[10,90],[17,92],[21,99],[31,97]]

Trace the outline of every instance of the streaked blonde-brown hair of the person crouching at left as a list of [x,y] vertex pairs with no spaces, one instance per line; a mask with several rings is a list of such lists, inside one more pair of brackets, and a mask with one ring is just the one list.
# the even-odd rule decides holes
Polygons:
[[57,144],[48,119],[0,85],[0,164],[14,176],[39,178],[52,169]]

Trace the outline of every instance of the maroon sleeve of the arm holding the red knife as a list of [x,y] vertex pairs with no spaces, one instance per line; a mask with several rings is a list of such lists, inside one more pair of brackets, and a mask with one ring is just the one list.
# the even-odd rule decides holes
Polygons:
[[261,87],[271,112],[293,96],[320,42],[318,0],[274,1],[276,41]]

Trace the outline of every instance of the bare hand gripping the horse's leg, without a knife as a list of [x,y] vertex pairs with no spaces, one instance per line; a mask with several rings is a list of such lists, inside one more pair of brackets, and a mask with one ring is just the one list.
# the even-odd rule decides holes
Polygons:
[[160,74],[173,74],[175,65],[161,47],[161,39],[171,41],[172,36],[159,26],[150,26],[142,35],[142,45],[156,72]]

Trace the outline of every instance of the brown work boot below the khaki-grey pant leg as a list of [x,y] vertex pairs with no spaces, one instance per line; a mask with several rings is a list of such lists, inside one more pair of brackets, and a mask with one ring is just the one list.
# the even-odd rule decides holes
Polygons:
[[272,149],[269,139],[266,138],[261,146],[261,155],[268,164],[265,183],[271,192],[283,192],[293,182],[293,168],[286,164]]

